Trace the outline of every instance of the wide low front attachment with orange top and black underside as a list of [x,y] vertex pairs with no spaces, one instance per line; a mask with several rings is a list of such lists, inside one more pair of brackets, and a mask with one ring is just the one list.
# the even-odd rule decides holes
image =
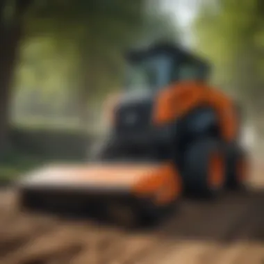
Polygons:
[[127,226],[156,222],[181,194],[170,163],[49,166],[28,174],[19,187],[24,208],[95,213]]

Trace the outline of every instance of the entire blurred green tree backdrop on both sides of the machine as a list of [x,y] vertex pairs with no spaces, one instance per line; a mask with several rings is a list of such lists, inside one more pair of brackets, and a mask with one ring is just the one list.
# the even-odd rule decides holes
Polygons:
[[[192,24],[192,48],[213,63],[213,83],[260,118],[263,3],[200,0]],[[162,12],[160,4],[160,0],[0,1],[0,152],[13,141],[10,127],[17,124],[88,127],[91,114],[97,123],[101,100],[122,88],[126,49],[157,39],[181,42],[175,19]],[[24,132],[23,140],[15,142],[27,142],[27,134],[31,141],[31,133]]]

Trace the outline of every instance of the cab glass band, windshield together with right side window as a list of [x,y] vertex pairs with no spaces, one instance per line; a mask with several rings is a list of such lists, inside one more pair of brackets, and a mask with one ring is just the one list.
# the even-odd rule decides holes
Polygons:
[[156,92],[173,81],[205,80],[206,65],[192,60],[176,61],[156,55],[130,62],[126,69],[126,90]]

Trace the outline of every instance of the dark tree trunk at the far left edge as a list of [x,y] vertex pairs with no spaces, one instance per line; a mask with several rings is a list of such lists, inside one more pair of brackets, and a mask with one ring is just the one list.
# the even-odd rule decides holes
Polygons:
[[13,69],[17,60],[17,47],[22,39],[22,20],[31,2],[0,2],[0,149],[3,149],[7,142]]

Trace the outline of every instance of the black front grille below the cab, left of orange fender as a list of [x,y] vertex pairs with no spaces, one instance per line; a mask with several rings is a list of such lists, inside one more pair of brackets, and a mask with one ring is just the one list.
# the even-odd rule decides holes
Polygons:
[[117,110],[115,129],[117,133],[137,133],[149,129],[151,124],[151,101],[131,103]]

